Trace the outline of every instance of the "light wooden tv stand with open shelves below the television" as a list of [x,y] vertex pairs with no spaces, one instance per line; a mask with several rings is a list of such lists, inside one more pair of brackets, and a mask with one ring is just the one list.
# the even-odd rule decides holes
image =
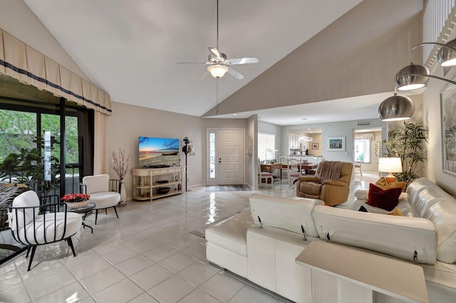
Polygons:
[[[133,198],[138,201],[152,201],[156,198],[182,193],[182,167],[172,166],[159,169],[132,169]],[[165,182],[166,183],[160,183]],[[163,187],[170,187],[167,193],[160,193]]]

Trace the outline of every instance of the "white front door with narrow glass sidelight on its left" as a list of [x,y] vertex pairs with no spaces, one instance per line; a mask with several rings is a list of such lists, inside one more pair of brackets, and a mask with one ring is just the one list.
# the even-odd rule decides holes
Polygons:
[[215,135],[215,157],[209,167],[215,171],[209,172],[207,184],[244,184],[244,129],[217,129],[210,133]]

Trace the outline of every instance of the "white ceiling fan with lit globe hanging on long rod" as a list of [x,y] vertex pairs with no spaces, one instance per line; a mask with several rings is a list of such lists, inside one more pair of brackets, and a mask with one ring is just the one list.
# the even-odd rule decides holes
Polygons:
[[200,80],[206,78],[210,73],[214,78],[222,78],[225,73],[229,73],[234,78],[243,79],[244,76],[238,73],[231,65],[257,63],[258,58],[246,57],[246,58],[231,58],[229,59],[226,54],[219,52],[219,0],[217,0],[217,47],[208,46],[209,56],[205,62],[178,62],[177,64],[206,64],[209,65],[207,70],[199,77]]

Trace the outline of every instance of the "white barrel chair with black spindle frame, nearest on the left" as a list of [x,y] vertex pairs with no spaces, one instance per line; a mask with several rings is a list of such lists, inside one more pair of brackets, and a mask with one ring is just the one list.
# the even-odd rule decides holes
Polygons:
[[[8,220],[14,239],[31,250],[30,270],[36,246],[66,240],[76,257],[71,237],[81,228],[83,219],[78,213],[67,212],[66,203],[41,204],[34,191],[14,198],[9,206]],[[63,211],[59,211],[63,208]]]

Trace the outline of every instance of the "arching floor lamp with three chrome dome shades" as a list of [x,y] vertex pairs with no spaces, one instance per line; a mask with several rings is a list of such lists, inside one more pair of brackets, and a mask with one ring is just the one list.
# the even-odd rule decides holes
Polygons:
[[[410,51],[418,48],[419,46],[425,45],[437,45],[440,46],[440,50],[437,54],[437,61],[442,66],[453,66],[456,65],[456,39],[447,42],[446,44],[425,42],[417,44],[410,48]],[[405,68],[399,70],[395,75],[395,89],[398,90],[415,90],[427,85],[429,78],[435,78],[438,80],[446,81],[456,85],[455,81],[430,75],[429,70],[424,65],[411,63]],[[396,121],[410,119],[415,112],[415,105],[409,97],[398,96],[394,93],[393,97],[385,99],[378,107],[378,117],[383,121]]]

